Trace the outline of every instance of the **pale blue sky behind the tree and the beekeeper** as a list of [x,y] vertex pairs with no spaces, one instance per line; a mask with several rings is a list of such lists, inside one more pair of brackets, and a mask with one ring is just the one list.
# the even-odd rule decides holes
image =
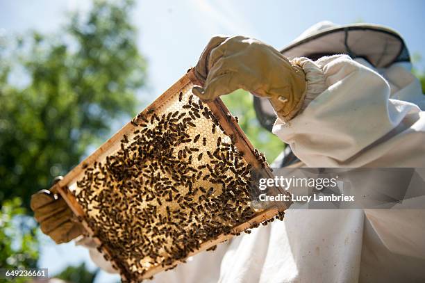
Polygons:
[[[87,0],[0,0],[0,37],[28,29],[56,31],[69,10],[88,10]],[[411,54],[424,59],[425,1],[138,1],[133,23],[139,29],[138,45],[149,63],[149,86],[141,98],[151,102],[193,66],[209,38],[217,34],[248,35],[280,49],[309,26],[322,20],[338,24],[372,22],[396,29]],[[44,241],[48,241],[44,239]],[[50,242],[48,242],[50,243]],[[41,266],[53,274],[68,264],[85,260],[84,248],[73,243],[47,244]],[[93,264],[90,264],[94,268]],[[102,275],[97,282],[116,282]]]

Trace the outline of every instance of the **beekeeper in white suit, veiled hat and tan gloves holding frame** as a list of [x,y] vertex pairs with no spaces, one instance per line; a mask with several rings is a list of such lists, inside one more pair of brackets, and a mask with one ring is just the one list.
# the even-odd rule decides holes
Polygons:
[[[193,92],[204,101],[239,88],[262,97],[256,111],[276,113],[273,133],[309,167],[425,167],[425,99],[410,67],[396,31],[322,22],[281,52],[243,36],[213,38],[196,66],[205,85]],[[37,203],[43,232],[58,241],[78,234],[71,222],[43,225],[58,201],[50,198],[43,213]],[[197,254],[153,282],[425,282],[424,267],[423,210],[290,209],[283,222]]]

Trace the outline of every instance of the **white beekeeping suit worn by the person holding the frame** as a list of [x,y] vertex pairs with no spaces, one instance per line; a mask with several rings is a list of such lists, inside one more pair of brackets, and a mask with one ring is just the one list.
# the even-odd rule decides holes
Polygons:
[[[306,73],[306,100],[273,132],[306,166],[425,167],[425,99],[409,63],[294,60]],[[397,208],[290,209],[283,222],[202,252],[153,282],[425,282],[425,211]],[[107,266],[94,250],[92,257]]]

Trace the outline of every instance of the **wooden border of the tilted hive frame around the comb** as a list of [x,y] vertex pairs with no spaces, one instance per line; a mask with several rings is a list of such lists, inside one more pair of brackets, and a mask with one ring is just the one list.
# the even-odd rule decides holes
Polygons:
[[[187,74],[185,74],[181,79],[176,81],[173,86],[171,86],[168,90],[166,90],[163,95],[160,95],[158,99],[155,100],[149,107],[144,109],[144,111],[141,112],[141,114],[144,114],[147,112],[148,108],[156,108],[156,106],[163,104],[171,95],[175,95],[176,92],[179,90],[185,88],[190,83],[194,85],[201,85],[201,83],[197,80],[196,76],[194,76],[193,70],[189,70]],[[215,115],[215,118],[219,121],[219,124],[224,129],[224,132],[226,135],[233,134],[235,136],[234,144],[235,147],[240,151],[244,152],[244,159],[247,161],[247,163],[251,164],[254,169],[260,170],[262,174],[264,174],[267,177],[273,177],[272,171],[262,165],[263,163],[258,159],[258,154],[256,154],[255,149],[253,148],[253,145],[251,145],[249,139],[247,136],[245,136],[242,129],[240,129],[237,120],[232,116],[228,115],[229,111],[228,108],[224,105],[221,99],[217,98],[213,102],[208,102],[208,107],[210,108],[210,111],[213,112]],[[88,235],[93,236],[93,239],[97,245],[99,245],[102,249],[102,252],[104,254],[110,254],[108,250],[104,247],[104,245],[101,245],[101,241],[99,238],[94,236],[94,232],[92,229],[90,229],[88,223],[85,221],[85,211],[83,211],[80,204],[78,204],[76,197],[72,194],[72,192],[69,191],[69,186],[72,184],[75,184],[78,176],[81,176],[81,174],[84,171],[84,168],[88,165],[91,165],[94,163],[94,161],[97,161],[101,158],[101,156],[106,156],[110,152],[114,152],[119,147],[119,142],[122,139],[122,137],[126,134],[131,133],[133,131],[134,126],[131,122],[128,122],[122,129],[120,129],[116,134],[113,135],[109,140],[107,140],[103,145],[101,145],[95,152],[93,152],[90,156],[88,156],[84,161],[82,161],[80,164],[78,164],[73,170],[71,170],[65,177],[63,177],[62,180],[58,181],[58,183],[54,184],[51,187],[51,191],[60,193],[60,195],[63,197],[65,202],[67,202],[68,206],[72,209],[74,214],[76,215],[76,218],[78,221],[81,222],[83,227],[85,227],[85,230],[87,231]],[[281,193],[274,192],[274,193]],[[288,209],[290,206],[290,202],[280,202],[278,205],[279,207],[272,207],[269,209],[265,209],[264,211],[260,211],[256,214],[251,220],[249,220],[246,223],[242,223],[241,225],[238,225],[237,227],[233,227],[232,234],[238,234],[240,232],[243,232],[245,229],[248,229],[250,227],[259,225],[265,220],[269,220],[276,216],[279,211],[284,211],[285,209]],[[228,240],[229,238],[233,237],[232,234],[224,235],[222,234],[218,238],[215,238],[211,241],[206,241],[201,244],[201,248],[199,250],[195,250],[194,252],[190,252],[188,254],[188,257],[197,254],[198,252],[201,252],[203,250],[207,250],[208,248],[213,247],[214,245],[217,245],[218,243],[222,243],[223,241]],[[111,261],[113,261],[111,259]],[[170,266],[155,266],[153,268],[150,268],[147,270],[142,277],[138,278],[138,280],[143,280],[146,278],[151,277],[152,275],[165,270]],[[122,275],[123,277],[123,275]],[[123,280],[128,280],[127,278],[123,277]]]

